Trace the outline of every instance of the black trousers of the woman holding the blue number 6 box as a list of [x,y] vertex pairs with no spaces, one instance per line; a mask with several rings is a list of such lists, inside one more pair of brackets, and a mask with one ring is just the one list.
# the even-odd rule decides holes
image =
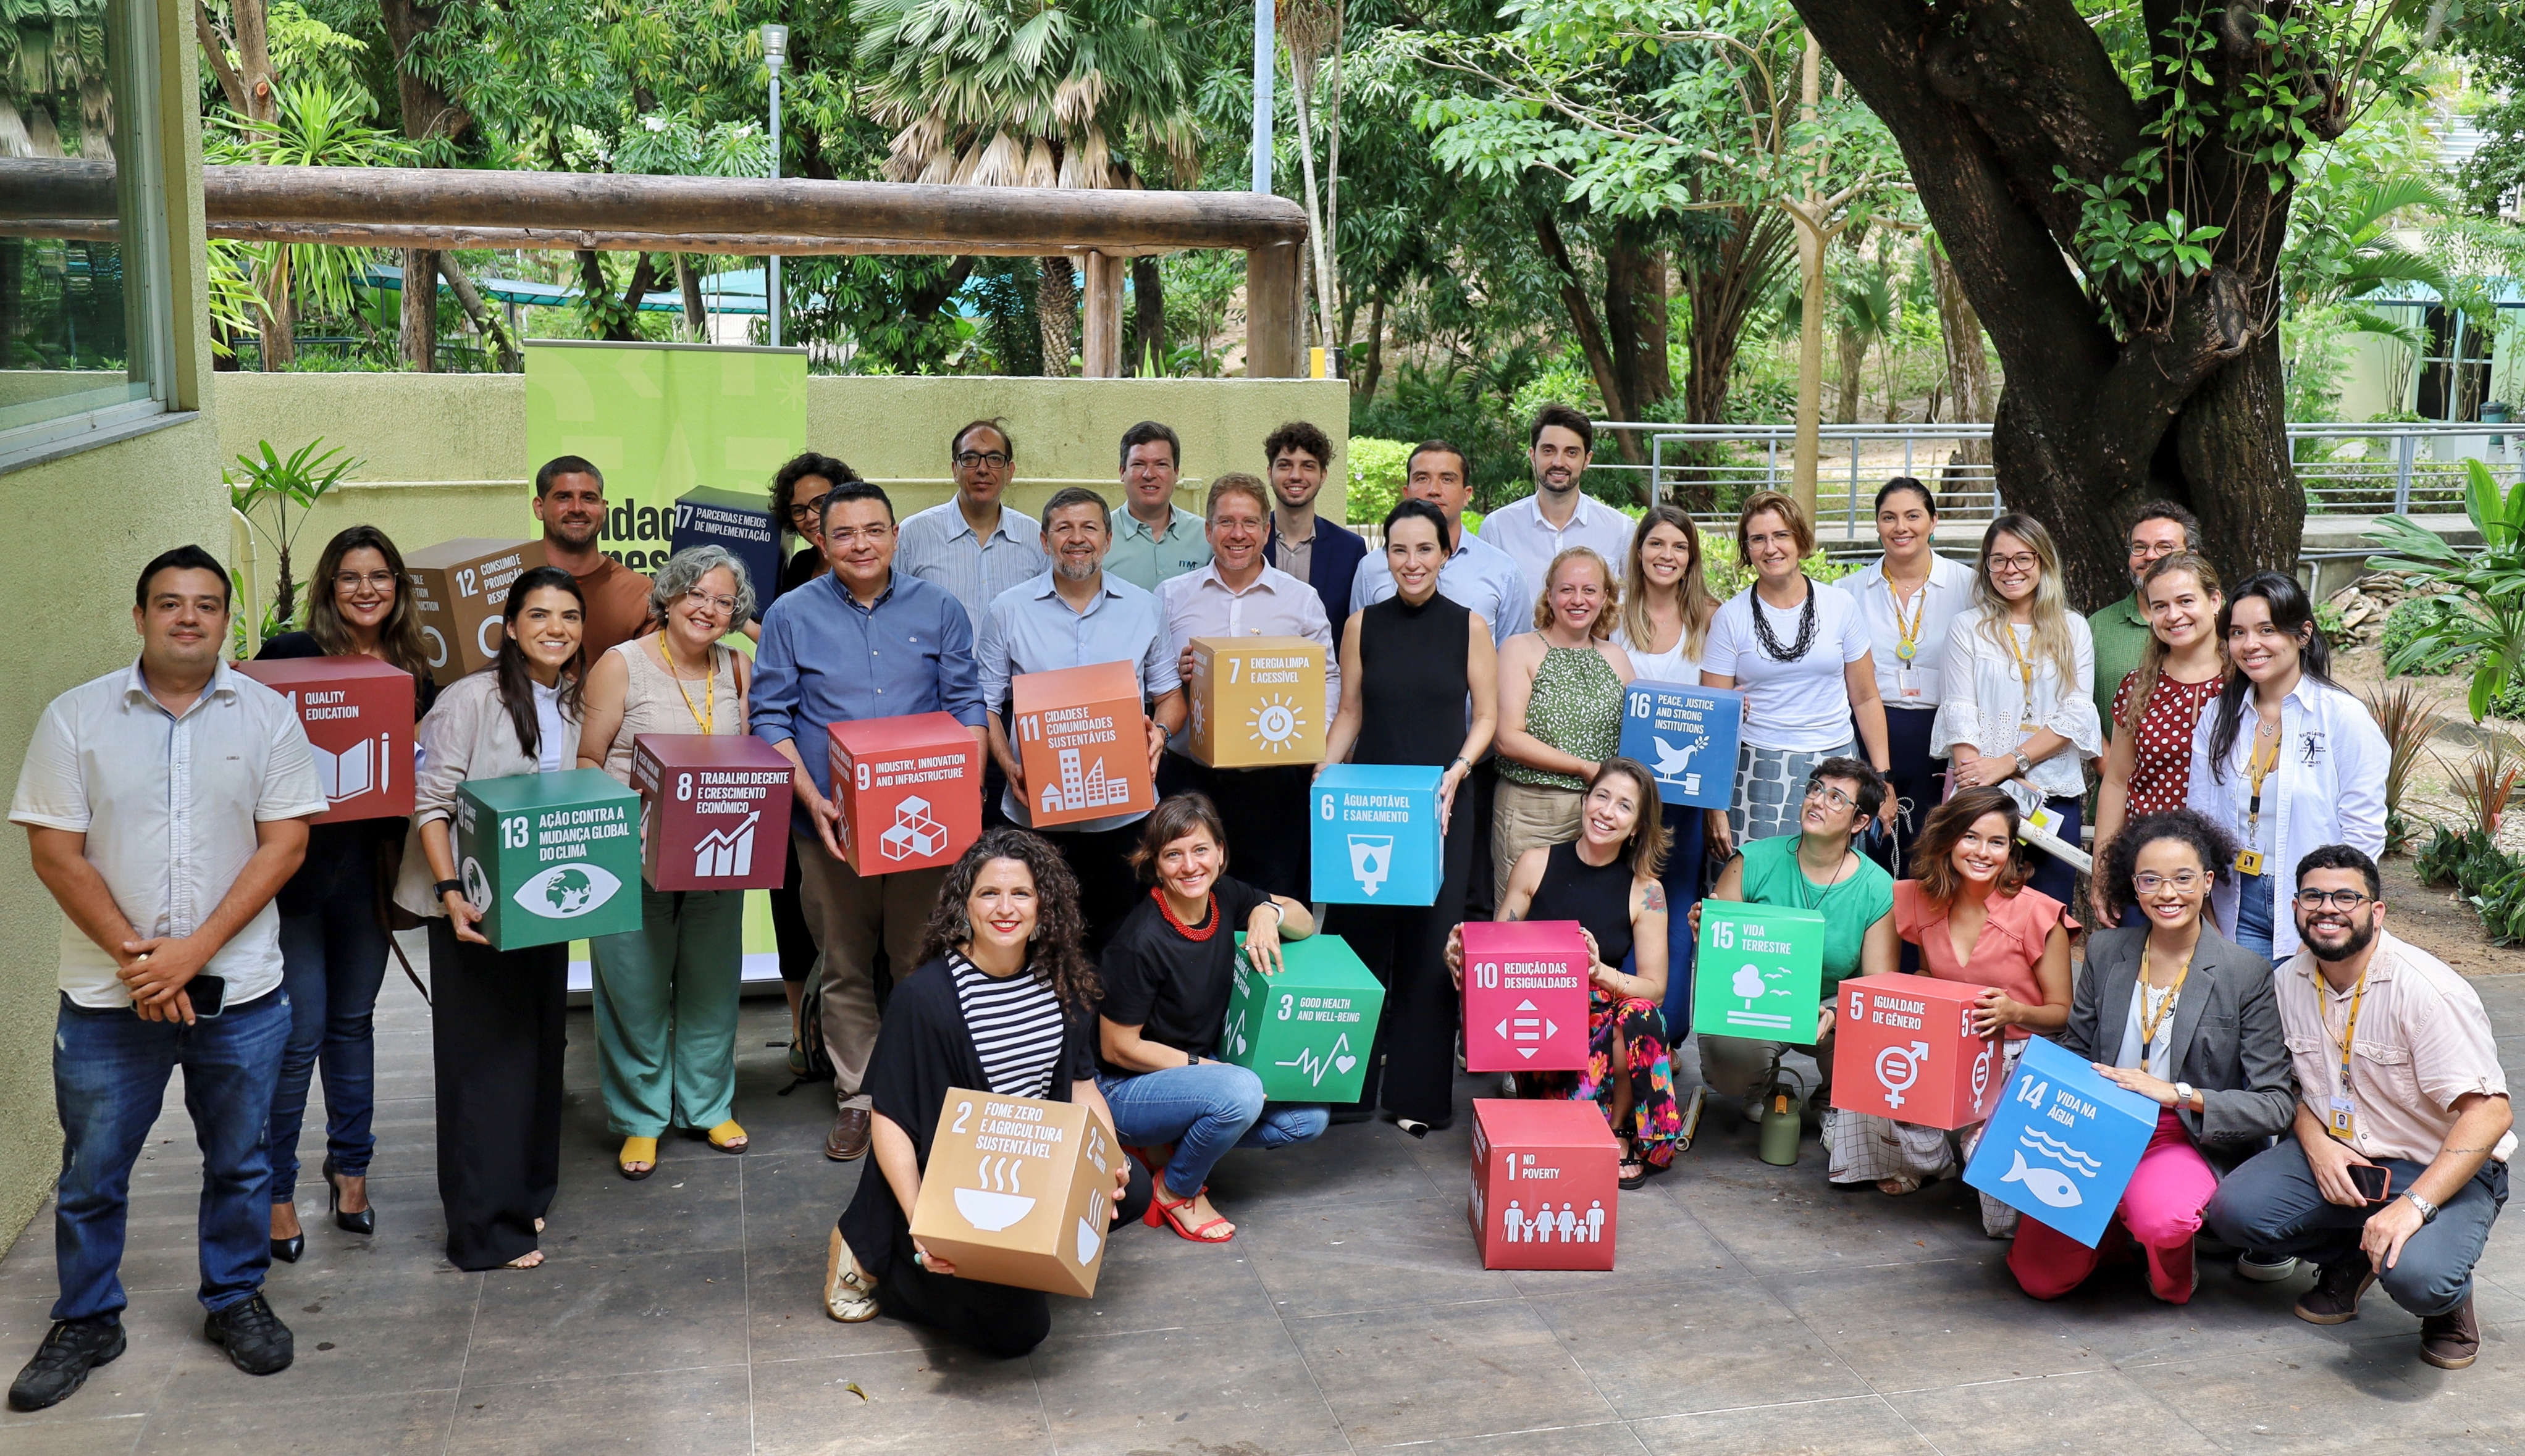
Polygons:
[[[1464,780],[1472,782],[1470,777]],[[1447,876],[1434,906],[1331,906],[1326,931],[1348,941],[1386,987],[1386,1012],[1376,1019],[1369,1080],[1348,1110],[1384,1105],[1396,1118],[1444,1123],[1454,1113],[1454,1027],[1462,1012],[1447,977],[1447,931],[1464,921],[1464,886],[1475,873],[1472,795],[1459,795],[1447,818]]]

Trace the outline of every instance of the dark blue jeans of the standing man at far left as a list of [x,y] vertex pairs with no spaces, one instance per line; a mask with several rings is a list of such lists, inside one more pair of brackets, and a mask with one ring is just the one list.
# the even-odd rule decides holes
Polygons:
[[167,1103],[167,1072],[184,1067],[184,1110],[202,1148],[202,1305],[242,1305],[263,1289],[273,1224],[263,1125],[290,1035],[290,997],[268,992],[194,1024],[144,1022],[131,1007],[96,1012],[61,999],[53,1019],[53,1110],[61,1113],[61,1183],[53,1206],[56,1320],[119,1315],[131,1163]]

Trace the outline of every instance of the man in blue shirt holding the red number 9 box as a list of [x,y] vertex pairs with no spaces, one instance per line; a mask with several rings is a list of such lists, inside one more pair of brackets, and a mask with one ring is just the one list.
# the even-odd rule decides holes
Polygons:
[[922,931],[947,868],[861,876],[841,855],[841,805],[826,729],[836,722],[952,714],[982,737],[972,671],[972,623],[947,588],[894,570],[894,502],[846,479],[823,497],[823,558],[831,570],[763,613],[755,649],[752,729],[798,770],[790,838],[798,901],[823,954],[818,994],[833,1057],[833,1133],[823,1153],[869,1151],[861,1077],[876,1052],[876,951],[896,977],[919,966]]

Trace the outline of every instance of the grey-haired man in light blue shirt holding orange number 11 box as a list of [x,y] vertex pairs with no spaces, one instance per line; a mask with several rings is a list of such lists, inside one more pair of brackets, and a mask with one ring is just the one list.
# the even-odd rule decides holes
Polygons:
[[[1025,765],[1007,739],[1010,681],[1030,671],[1060,671],[1108,661],[1131,664],[1149,707],[1149,772],[1167,752],[1167,734],[1184,724],[1182,674],[1167,651],[1156,596],[1103,570],[1114,545],[1114,515],[1093,490],[1071,487],[1043,507],[1043,553],[1053,570],[1013,585],[990,603],[975,661],[982,702],[990,704],[990,757],[1007,775],[1000,813],[1033,828]],[[1088,921],[1088,949],[1103,949],[1131,911],[1134,881],[1126,855],[1144,813],[1124,813],[1035,830],[1060,845],[1078,876],[1078,908]]]

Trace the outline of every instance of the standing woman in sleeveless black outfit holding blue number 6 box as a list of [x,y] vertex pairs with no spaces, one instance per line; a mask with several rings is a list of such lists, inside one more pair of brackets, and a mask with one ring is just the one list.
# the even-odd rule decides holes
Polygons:
[[[1351,613],[1341,628],[1341,712],[1323,744],[1323,762],[1333,765],[1447,770],[1437,790],[1447,833],[1437,903],[1338,906],[1328,926],[1386,987],[1369,1080],[1358,1103],[1336,1110],[1333,1120],[1361,1120],[1381,1103],[1414,1138],[1454,1120],[1457,997],[1444,951],[1447,934],[1464,919],[1472,876],[1472,805],[1454,813],[1454,792],[1490,752],[1500,722],[1492,623],[1437,593],[1449,545],[1447,517],[1427,500],[1406,500],[1386,515],[1394,596]],[[1449,712],[1457,702],[1464,714]]]

